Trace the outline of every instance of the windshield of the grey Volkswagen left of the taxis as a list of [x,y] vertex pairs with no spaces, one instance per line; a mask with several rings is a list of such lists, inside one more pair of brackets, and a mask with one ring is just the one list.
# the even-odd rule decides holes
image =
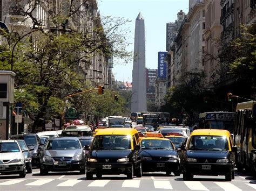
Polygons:
[[58,139],[48,140],[45,150],[73,150],[81,148],[79,140]]

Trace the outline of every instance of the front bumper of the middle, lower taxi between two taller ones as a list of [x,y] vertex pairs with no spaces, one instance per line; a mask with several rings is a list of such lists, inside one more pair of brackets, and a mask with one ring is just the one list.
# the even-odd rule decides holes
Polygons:
[[179,169],[180,163],[178,161],[142,161],[143,172],[175,172]]

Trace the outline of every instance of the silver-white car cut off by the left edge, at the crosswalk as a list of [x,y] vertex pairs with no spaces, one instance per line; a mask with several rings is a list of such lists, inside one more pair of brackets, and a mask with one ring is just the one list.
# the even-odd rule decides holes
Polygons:
[[24,151],[16,140],[0,140],[0,174],[26,176]]

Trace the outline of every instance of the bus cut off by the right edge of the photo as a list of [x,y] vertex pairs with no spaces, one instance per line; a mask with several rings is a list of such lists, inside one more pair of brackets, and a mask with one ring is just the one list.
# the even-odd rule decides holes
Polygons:
[[256,151],[256,101],[237,104],[234,143],[237,145],[236,165],[238,171],[246,169],[255,173],[253,158]]

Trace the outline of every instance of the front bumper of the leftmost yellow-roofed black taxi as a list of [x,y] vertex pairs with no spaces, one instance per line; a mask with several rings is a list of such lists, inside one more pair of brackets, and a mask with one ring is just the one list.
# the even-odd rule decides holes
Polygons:
[[[111,168],[103,169],[103,165],[110,165]],[[110,167],[109,166],[109,167]],[[127,174],[131,172],[132,162],[86,162],[86,172],[102,174]]]

